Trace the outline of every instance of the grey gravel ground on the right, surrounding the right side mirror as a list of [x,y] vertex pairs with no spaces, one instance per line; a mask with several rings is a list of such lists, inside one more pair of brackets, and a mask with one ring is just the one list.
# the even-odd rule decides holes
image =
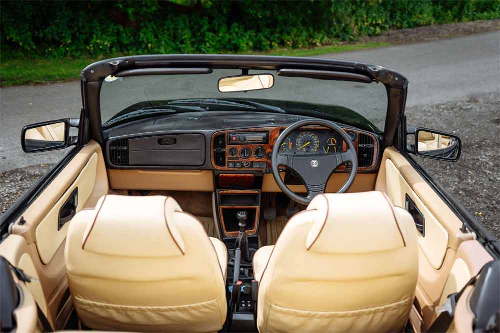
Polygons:
[[500,93],[406,109],[407,123],[456,134],[455,163],[415,157],[434,180],[500,238]]

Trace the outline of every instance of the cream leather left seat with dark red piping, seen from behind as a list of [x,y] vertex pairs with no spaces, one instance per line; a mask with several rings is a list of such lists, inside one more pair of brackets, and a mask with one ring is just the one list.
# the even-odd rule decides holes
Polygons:
[[216,332],[225,321],[226,248],[170,197],[101,197],[70,222],[64,257],[89,328]]

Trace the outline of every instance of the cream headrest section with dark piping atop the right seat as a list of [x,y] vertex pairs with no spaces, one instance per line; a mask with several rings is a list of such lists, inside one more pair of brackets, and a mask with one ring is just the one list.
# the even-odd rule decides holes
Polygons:
[[309,251],[357,254],[405,246],[389,198],[382,192],[324,194],[307,210],[316,210],[305,247]]

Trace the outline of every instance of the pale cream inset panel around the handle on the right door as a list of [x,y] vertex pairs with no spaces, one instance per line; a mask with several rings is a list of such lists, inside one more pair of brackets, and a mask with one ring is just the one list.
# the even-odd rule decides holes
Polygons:
[[387,195],[395,206],[404,208],[405,194],[413,200],[425,219],[424,235],[417,232],[418,245],[432,267],[439,269],[448,245],[448,233],[410,188],[390,159],[385,160]]

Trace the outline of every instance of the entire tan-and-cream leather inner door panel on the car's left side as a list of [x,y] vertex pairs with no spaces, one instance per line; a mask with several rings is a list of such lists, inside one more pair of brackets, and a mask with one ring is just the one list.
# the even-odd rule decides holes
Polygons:
[[[81,148],[22,212],[20,217],[25,222],[19,224],[19,217],[11,227],[11,235],[0,244],[0,254],[13,251],[15,255],[6,258],[39,279],[39,283],[29,283],[26,287],[51,325],[56,319],[58,323],[65,322],[58,311],[59,305],[67,301],[64,243],[70,221],[58,230],[59,210],[75,188],[78,188],[75,211],[93,207],[109,191],[102,152],[94,141]],[[19,238],[23,243],[19,243]]]

